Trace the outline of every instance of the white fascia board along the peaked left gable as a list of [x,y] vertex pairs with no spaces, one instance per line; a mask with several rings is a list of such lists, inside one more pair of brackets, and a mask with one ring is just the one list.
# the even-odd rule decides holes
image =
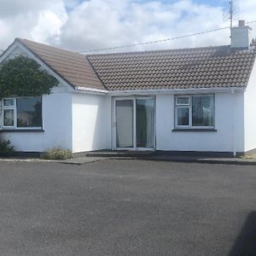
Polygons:
[[9,55],[11,52],[16,48],[19,47],[22,49],[26,55],[28,55],[30,58],[32,58],[34,61],[37,61],[38,64],[44,68],[44,70],[47,71],[50,75],[54,76],[55,79],[57,79],[61,84],[63,84],[67,91],[72,92],[74,89],[72,85],[68,84],[64,79],[62,79],[57,73],[55,73],[54,70],[52,70],[50,67],[48,67],[43,61],[41,61],[36,55],[34,55],[29,49],[27,49],[23,44],[20,44],[20,42],[15,41],[14,44],[10,46],[10,48],[1,56],[0,63]]

